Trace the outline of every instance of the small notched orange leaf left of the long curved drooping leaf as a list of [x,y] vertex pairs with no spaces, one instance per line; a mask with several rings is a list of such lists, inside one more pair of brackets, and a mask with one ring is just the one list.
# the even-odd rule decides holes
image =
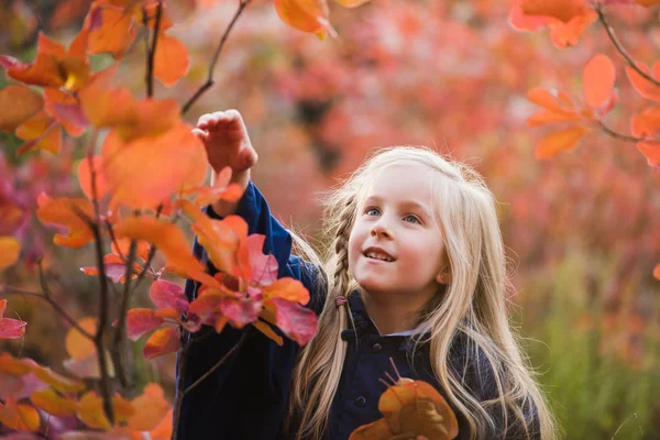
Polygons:
[[62,197],[52,199],[42,194],[38,199],[36,217],[44,224],[53,224],[66,229],[66,234],[56,233],[53,242],[59,246],[80,248],[94,241],[94,233],[81,215],[94,218],[91,202],[81,198]]

